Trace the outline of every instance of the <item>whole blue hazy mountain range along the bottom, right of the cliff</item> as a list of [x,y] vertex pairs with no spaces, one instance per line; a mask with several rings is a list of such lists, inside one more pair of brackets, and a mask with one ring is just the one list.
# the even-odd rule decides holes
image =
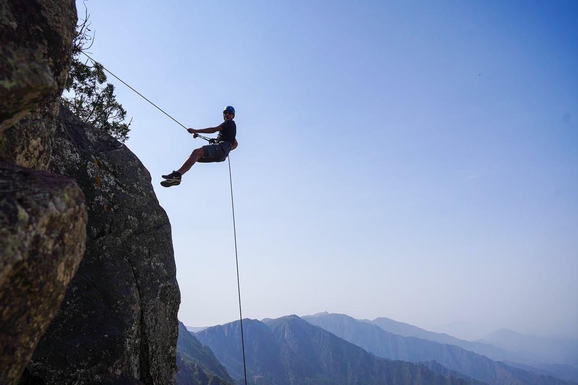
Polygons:
[[[196,333],[181,326],[180,335],[191,335],[194,341],[188,342],[193,350],[177,350],[177,359],[188,362],[184,370],[201,369],[213,376],[210,385],[242,384],[245,370],[247,383],[255,385],[568,385],[576,378],[572,365],[550,364],[540,369],[492,360],[490,356],[514,354],[508,350],[512,345],[500,335],[490,336],[494,342],[502,341],[494,346],[490,341],[464,341],[387,318],[356,320],[329,313],[244,319],[242,325],[243,331],[236,321]],[[195,361],[199,352],[205,358]],[[555,373],[548,372],[553,368]],[[179,385],[209,384],[198,379],[184,382],[177,373]]]

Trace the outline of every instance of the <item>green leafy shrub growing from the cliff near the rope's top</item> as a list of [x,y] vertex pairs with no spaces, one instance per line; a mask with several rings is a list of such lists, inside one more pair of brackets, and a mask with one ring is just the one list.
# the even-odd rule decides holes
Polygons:
[[[100,63],[92,62],[84,54],[92,45],[88,29],[88,14],[76,26],[72,47],[71,69],[68,72],[62,103],[81,121],[105,130],[117,140],[128,139],[129,125],[125,123],[127,111],[114,95],[114,85],[106,83],[106,74]],[[82,60],[85,59],[86,60]]]

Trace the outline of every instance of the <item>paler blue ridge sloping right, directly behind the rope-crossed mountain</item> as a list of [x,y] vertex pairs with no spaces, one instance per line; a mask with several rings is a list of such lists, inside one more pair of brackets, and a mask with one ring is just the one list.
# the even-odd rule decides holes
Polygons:
[[[561,379],[537,375],[492,361],[462,347],[428,341],[417,337],[403,337],[383,330],[368,322],[347,315],[318,313],[302,317],[307,322],[323,327],[340,338],[361,346],[376,356],[411,362],[437,361],[447,369],[464,373],[492,385],[512,384],[568,384]],[[406,328],[411,330],[411,328]]]

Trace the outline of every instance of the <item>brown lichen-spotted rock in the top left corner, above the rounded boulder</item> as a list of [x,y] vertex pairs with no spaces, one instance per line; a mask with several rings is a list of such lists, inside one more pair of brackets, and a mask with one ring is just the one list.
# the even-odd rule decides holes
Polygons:
[[48,166],[76,20],[75,0],[0,0],[0,160]]

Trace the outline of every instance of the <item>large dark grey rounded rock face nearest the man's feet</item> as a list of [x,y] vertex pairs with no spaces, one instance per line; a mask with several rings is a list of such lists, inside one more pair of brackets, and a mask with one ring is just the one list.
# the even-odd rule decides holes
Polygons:
[[180,293],[171,225],[149,172],[64,107],[50,170],[84,191],[86,254],[22,383],[175,383]]

